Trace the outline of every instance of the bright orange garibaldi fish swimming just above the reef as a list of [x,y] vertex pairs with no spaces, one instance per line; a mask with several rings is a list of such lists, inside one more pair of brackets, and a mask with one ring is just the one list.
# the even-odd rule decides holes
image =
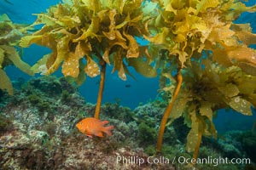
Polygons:
[[78,127],[81,133],[84,133],[90,138],[92,138],[92,135],[102,138],[102,132],[107,133],[108,136],[111,136],[111,130],[113,129],[113,126],[103,127],[107,123],[108,121],[101,121],[94,117],[87,117],[84,118],[82,121],[78,122],[76,124],[76,127]]

